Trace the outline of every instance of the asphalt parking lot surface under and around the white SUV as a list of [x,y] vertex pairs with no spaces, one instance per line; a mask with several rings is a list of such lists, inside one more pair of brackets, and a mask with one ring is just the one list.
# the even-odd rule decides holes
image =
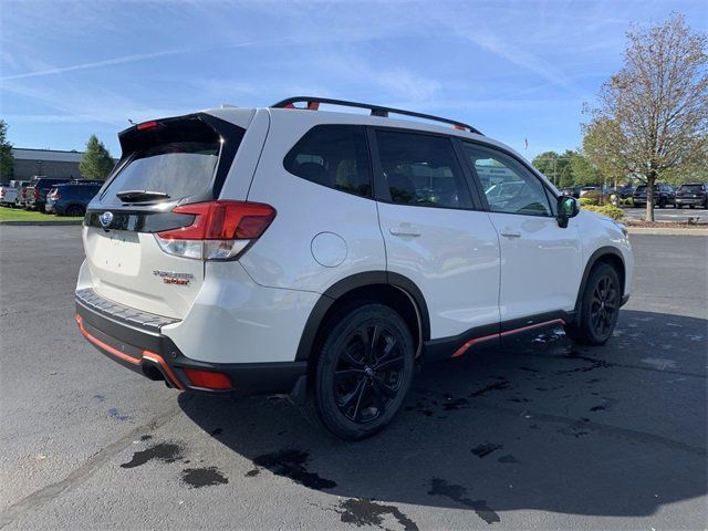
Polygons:
[[80,228],[2,227],[0,527],[702,529],[708,238],[632,241],[606,346],[559,330],[426,367],[386,431],[346,444],[283,399],[107,360],[73,319]]

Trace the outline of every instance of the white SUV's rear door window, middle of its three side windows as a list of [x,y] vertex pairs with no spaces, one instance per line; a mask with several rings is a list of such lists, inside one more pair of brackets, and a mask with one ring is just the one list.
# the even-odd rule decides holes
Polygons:
[[385,191],[398,205],[471,208],[472,200],[449,138],[376,132]]

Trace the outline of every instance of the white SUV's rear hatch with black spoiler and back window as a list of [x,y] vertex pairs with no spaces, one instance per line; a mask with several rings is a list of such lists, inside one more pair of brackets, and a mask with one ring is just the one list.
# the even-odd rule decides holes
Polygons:
[[175,208],[219,197],[244,132],[199,113],[119,134],[121,160],[84,219],[84,250],[97,294],[158,315],[187,314],[204,283],[205,262],[166,252],[157,233],[195,222],[194,214]]

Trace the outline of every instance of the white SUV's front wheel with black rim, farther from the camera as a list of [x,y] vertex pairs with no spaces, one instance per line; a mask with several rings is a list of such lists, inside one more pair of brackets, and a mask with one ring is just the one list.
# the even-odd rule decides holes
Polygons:
[[565,333],[575,343],[604,345],[617,324],[622,284],[615,268],[598,263],[587,278],[577,322],[565,326]]

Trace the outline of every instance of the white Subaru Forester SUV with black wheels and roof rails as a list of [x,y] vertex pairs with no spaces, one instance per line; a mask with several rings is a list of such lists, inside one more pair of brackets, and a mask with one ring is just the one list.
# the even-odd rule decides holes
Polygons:
[[417,364],[554,325],[602,344],[628,299],[624,227],[466,124],[300,97],[119,139],[84,221],[76,321],[178,389],[290,393],[360,439]]

